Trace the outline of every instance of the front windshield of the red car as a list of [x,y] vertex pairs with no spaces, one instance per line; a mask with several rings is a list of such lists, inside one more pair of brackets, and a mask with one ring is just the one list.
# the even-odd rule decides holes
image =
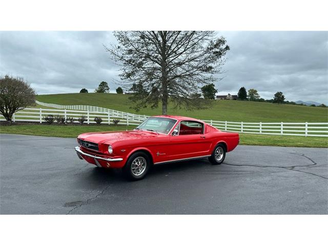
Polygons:
[[174,126],[176,120],[161,117],[150,117],[142,122],[136,130],[147,130],[163,134],[168,134]]

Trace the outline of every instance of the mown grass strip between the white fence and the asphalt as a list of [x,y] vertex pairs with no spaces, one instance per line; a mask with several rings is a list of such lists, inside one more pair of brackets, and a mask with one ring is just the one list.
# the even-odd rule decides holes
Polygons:
[[[134,127],[129,126],[128,129]],[[126,126],[58,126],[58,125],[14,125],[1,126],[0,133],[37,135],[49,137],[76,137],[84,132],[125,131]],[[239,134],[240,145],[328,148],[328,137],[301,137]]]

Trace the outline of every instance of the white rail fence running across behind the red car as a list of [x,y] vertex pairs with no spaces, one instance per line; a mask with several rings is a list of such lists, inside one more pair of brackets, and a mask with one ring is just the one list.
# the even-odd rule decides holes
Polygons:
[[[50,106],[47,106],[50,107]],[[136,115],[120,111],[108,110],[107,112],[99,112],[97,110],[80,110],[77,106],[74,109],[45,109],[45,108],[26,108],[16,112],[13,115],[13,121],[29,121],[29,122],[45,122],[44,117],[47,115],[61,115],[65,118],[74,118],[73,122],[81,115],[87,117],[86,124],[95,124],[95,117],[103,119],[101,124],[112,125],[113,119],[119,119],[118,125],[139,125],[147,117],[146,115]],[[89,106],[93,107],[93,106]],[[139,117],[138,117],[139,116]],[[0,114],[0,120],[5,118]],[[316,136],[328,137],[328,122],[236,122],[236,121],[219,121],[219,120],[203,120],[209,125],[227,132],[267,134],[267,135],[291,135],[291,136]]]

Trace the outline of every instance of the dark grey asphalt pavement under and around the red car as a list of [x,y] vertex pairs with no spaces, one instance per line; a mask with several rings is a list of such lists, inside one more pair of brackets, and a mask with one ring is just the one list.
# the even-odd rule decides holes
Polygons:
[[0,134],[1,214],[328,214],[328,149],[238,146],[140,181],[77,158],[76,139]]

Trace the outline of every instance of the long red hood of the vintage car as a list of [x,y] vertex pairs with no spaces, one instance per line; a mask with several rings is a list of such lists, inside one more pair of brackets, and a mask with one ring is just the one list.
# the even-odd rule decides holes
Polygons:
[[158,137],[162,134],[149,131],[122,131],[122,132],[93,132],[80,134],[78,138],[97,144],[104,144],[105,142],[113,143],[121,140],[132,140],[142,138]]

